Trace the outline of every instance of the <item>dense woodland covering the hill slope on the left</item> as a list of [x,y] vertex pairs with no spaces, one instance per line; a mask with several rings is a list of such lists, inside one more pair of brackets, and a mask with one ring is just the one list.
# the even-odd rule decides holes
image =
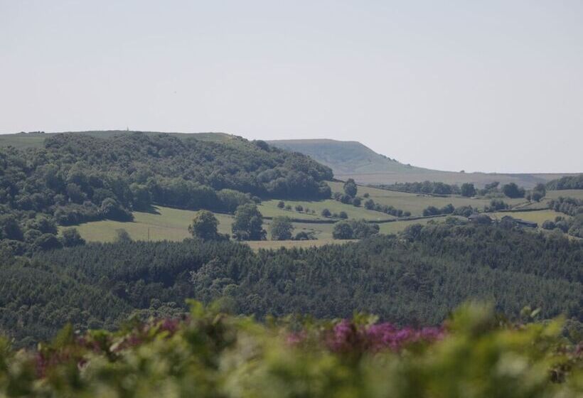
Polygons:
[[56,134],[43,149],[0,148],[0,240],[14,254],[58,247],[56,225],[132,220],[154,203],[234,213],[261,198],[329,198],[331,178],[263,141]]

